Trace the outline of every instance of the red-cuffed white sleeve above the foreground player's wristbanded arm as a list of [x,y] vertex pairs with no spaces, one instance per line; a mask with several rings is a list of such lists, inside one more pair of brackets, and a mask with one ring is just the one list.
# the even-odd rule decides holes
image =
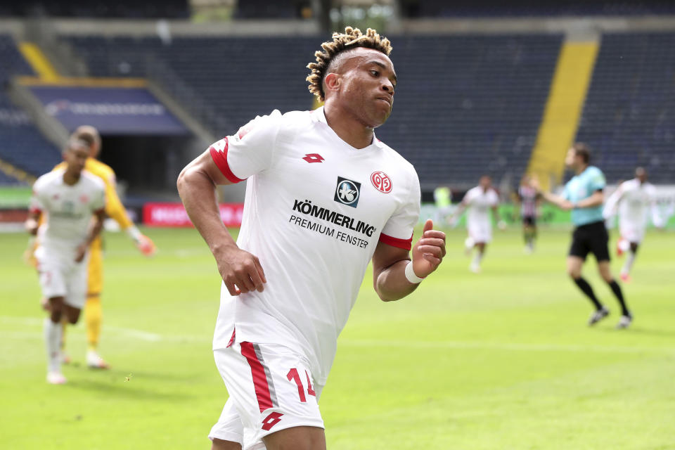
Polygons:
[[420,219],[420,180],[415,169],[411,170],[407,198],[397,207],[380,233],[381,242],[404,250],[412,248],[413,230]]

